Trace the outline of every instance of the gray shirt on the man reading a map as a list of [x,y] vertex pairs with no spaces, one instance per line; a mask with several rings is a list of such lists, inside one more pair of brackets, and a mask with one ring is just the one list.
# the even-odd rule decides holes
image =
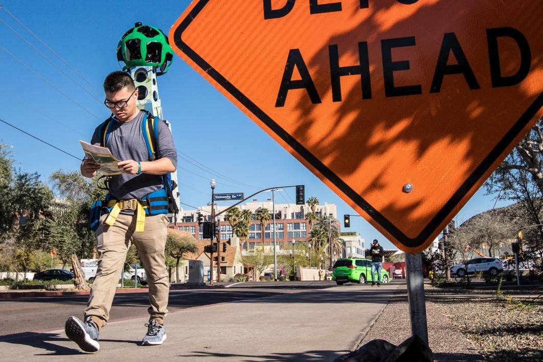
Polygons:
[[[140,111],[134,119],[128,122],[119,122],[113,117],[113,125],[106,147],[117,160],[148,161],[149,153],[141,130],[143,117],[147,117],[143,111]],[[173,143],[172,132],[165,122],[158,122],[157,125],[159,135],[155,143],[156,159],[167,157],[177,168],[177,151]],[[91,143],[94,145],[100,145],[101,128],[100,124],[94,130],[91,139]],[[109,187],[111,196],[118,200],[141,199],[143,196],[162,188],[162,176],[123,173],[113,176]]]

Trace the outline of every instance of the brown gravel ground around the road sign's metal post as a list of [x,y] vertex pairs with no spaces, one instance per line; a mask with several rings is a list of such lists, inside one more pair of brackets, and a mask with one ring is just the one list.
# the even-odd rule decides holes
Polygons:
[[[497,289],[497,288],[496,288]],[[543,361],[541,290],[441,290],[425,284],[428,342],[434,361]],[[399,345],[411,336],[406,285],[358,347],[374,339]]]

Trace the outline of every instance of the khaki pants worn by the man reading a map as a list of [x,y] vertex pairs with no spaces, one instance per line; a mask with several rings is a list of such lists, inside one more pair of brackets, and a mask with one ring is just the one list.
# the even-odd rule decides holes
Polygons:
[[162,323],[168,312],[169,281],[165,265],[164,247],[169,220],[166,214],[146,216],[143,232],[135,232],[135,215],[119,214],[112,226],[104,224],[107,215],[100,218],[96,231],[98,270],[92,283],[85,316],[98,317],[103,323],[109,320],[109,311],[127,251],[131,243],[138,250],[149,285],[149,320]]

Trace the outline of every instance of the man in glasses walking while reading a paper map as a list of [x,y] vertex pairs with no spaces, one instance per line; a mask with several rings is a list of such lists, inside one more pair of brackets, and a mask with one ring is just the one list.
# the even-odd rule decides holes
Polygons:
[[[149,323],[145,325],[147,333],[142,345],[161,345],[166,340],[163,319],[168,312],[169,281],[164,249],[169,220],[165,213],[146,215],[143,207],[147,205],[147,195],[162,192],[162,175],[175,172],[177,153],[168,126],[157,122],[156,158],[147,161],[149,153],[141,127],[147,113],[136,107],[138,91],[130,74],[110,73],[104,80],[104,91],[104,104],[112,112],[111,132],[105,146],[117,160],[122,160],[118,166],[123,169],[109,182],[109,200],[121,210],[116,219],[113,212],[100,217],[96,230],[98,270],[84,319],[71,316],[65,324],[68,338],[85,352],[100,348],[98,333],[109,320],[115,288],[131,244],[137,248],[149,283]],[[92,144],[100,145],[101,129],[99,125],[94,130]],[[81,174],[92,177],[99,168],[98,164],[83,160]]]

